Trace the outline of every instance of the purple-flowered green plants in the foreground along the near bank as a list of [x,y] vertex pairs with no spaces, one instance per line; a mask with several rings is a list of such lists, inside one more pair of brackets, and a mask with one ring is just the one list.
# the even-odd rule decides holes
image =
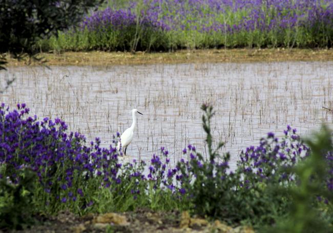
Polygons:
[[[213,108],[203,104],[201,109],[209,158],[188,145],[182,153],[189,160],[172,166],[164,147],[147,163],[122,164],[115,149],[118,134],[109,148],[102,148],[99,138],[87,143],[84,135],[67,132],[59,118],[37,121],[29,116],[26,104],[10,111],[3,103],[0,216],[13,206],[26,206],[22,203],[30,203],[31,214],[69,209],[82,215],[148,207],[189,210],[258,229],[330,232],[333,150],[332,133],[326,127],[305,141],[290,126],[283,138],[268,133],[259,146],[241,153],[231,171],[230,156],[219,152],[223,143],[213,145]],[[25,211],[15,213],[6,215],[11,220],[0,222],[0,227],[23,227],[19,220],[25,219]]]

